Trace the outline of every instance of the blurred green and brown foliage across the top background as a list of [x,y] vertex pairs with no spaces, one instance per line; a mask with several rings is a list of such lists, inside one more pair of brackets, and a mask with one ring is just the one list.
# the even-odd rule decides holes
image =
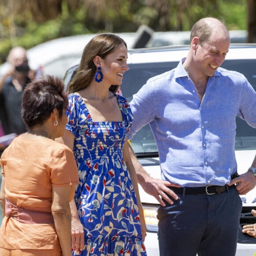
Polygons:
[[[135,32],[142,24],[155,31],[190,30],[198,19],[206,16],[224,19],[230,30],[248,30],[251,33],[256,30],[255,2],[0,0],[0,63],[16,45],[29,49],[51,39],[76,34]],[[249,38],[256,42],[256,33],[253,33],[254,36]]]

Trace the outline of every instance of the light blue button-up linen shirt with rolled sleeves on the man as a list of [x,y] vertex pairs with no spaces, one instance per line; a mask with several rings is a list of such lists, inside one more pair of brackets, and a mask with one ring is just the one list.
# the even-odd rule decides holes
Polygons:
[[162,180],[182,187],[228,184],[237,170],[236,117],[256,128],[256,92],[244,75],[218,68],[200,104],[183,62],[149,79],[133,95],[128,139],[150,124]]

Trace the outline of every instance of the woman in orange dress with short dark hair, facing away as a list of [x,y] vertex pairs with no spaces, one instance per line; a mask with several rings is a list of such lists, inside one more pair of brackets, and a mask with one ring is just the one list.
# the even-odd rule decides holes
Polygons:
[[28,132],[1,156],[1,256],[71,256],[69,202],[78,183],[73,152],[54,141],[67,123],[60,79],[26,86],[22,118]]

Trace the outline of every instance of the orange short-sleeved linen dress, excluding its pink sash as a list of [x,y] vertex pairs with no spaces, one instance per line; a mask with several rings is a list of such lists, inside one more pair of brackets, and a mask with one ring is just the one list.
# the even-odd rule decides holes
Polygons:
[[[52,139],[15,138],[1,156],[5,196],[32,211],[51,212],[52,187],[78,184],[73,152]],[[54,223],[24,224],[5,216],[0,227],[0,255],[61,255]]]

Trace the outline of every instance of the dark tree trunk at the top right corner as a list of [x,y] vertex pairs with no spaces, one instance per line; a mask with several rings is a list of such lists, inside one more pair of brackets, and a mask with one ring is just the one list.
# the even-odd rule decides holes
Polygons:
[[256,43],[256,1],[248,0],[248,43]]

